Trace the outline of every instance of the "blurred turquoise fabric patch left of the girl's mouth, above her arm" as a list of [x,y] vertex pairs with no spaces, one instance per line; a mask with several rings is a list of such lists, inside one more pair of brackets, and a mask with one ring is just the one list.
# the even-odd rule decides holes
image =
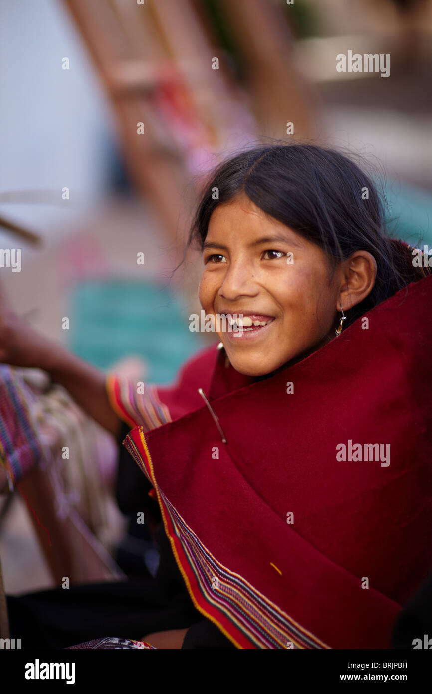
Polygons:
[[139,355],[147,379],[172,382],[188,357],[204,346],[189,331],[182,301],[163,285],[128,280],[82,282],[70,296],[69,347],[101,369],[122,357]]

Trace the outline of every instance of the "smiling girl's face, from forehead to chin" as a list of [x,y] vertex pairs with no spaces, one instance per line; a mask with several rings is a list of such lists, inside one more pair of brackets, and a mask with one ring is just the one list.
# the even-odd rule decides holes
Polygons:
[[272,373],[333,337],[338,272],[331,280],[324,251],[245,194],[211,214],[203,260],[199,296],[206,314],[243,315],[242,331],[223,330],[223,321],[218,330],[236,371]]

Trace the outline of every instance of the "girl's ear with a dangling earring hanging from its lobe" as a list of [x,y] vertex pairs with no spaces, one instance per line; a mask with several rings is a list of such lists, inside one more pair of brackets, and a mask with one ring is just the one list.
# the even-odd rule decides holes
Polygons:
[[377,277],[377,262],[369,251],[354,251],[343,262],[341,270],[343,277],[337,308],[340,311],[342,304],[345,311],[363,301],[372,290]]

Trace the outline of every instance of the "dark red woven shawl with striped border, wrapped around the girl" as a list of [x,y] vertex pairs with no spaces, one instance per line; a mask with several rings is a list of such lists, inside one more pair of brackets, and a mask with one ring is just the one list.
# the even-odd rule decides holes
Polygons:
[[[191,598],[238,648],[390,648],[432,568],[431,306],[429,276],[265,380],[216,348],[171,389],[109,378]],[[338,460],[349,440],[390,465]]]

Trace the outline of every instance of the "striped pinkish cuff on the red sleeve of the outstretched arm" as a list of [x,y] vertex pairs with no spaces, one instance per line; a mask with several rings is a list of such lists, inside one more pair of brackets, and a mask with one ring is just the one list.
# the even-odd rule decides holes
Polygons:
[[171,422],[169,409],[160,402],[155,386],[146,383],[144,393],[137,393],[137,382],[109,375],[105,387],[112,409],[130,428],[141,426],[150,431]]

